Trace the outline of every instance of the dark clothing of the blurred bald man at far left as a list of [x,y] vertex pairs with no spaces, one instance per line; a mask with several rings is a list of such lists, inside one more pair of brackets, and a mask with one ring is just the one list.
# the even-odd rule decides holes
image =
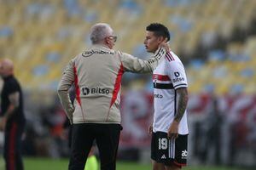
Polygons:
[[14,76],[3,78],[3,89],[1,93],[2,115],[6,114],[9,108],[9,95],[19,93],[19,106],[9,116],[4,129],[4,149],[3,157],[5,159],[5,169],[23,170],[23,161],[21,156],[21,136],[25,129],[25,116],[23,111],[23,99],[19,82]]

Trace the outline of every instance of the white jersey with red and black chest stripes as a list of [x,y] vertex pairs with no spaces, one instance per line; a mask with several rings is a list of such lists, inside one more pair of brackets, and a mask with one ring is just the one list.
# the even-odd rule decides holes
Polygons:
[[[188,87],[186,73],[181,60],[169,52],[153,72],[154,122],[153,132],[168,132],[177,111],[177,88]],[[185,111],[178,127],[179,134],[188,134]]]

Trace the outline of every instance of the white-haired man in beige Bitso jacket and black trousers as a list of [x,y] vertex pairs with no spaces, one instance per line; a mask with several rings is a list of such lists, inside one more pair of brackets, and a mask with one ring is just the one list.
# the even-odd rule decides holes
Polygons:
[[[82,170],[94,140],[98,146],[101,169],[116,169],[119,146],[120,88],[125,71],[152,72],[163,56],[166,43],[152,58],[138,59],[130,54],[113,50],[117,37],[105,23],[91,27],[92,46],[72,59],[64,71],[58,87],[61,104],[73,123],[69,170]],[[68,89],[75,85],[74,106]]]

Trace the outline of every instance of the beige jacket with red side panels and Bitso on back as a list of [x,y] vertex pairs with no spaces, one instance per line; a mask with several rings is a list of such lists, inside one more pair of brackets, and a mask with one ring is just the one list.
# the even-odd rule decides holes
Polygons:
[[[73,123],[120,123],[121,78],[125,71],[148,73],[166,55],[163,48],[148,60],[101,45],[93,45],[72,59],[58,86],[61,105]],[[74,106],[68,89],[74,83]]]

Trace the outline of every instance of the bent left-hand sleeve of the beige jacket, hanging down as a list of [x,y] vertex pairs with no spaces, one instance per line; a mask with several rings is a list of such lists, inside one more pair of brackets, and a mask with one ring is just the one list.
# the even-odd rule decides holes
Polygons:
[[74,82],[74,61],[73,59],[68,63],[63,76],[61,77],[61,82],[58,86],[58,95],[61,100],[61,105],[66,111],[67,117],[71,123],[73,123],[73,111],[74,107],[69,98],[68,90],[71,88]]

